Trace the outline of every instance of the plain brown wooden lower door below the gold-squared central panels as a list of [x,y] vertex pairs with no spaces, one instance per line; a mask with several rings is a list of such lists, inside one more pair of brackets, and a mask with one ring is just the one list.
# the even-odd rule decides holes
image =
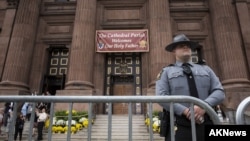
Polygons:
[[[134,85],[128,84],[115,84],[113,86],[113,94],[115,96],[128,96],[133,95]],[[113,103],[113,114],[128,114],[128,103]]]

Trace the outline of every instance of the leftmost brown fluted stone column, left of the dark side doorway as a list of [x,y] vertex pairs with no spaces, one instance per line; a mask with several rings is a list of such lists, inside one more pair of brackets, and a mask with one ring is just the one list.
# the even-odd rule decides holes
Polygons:
[[39,18],[40,0],[19,1],[0,90],[28,93],[30,65]]

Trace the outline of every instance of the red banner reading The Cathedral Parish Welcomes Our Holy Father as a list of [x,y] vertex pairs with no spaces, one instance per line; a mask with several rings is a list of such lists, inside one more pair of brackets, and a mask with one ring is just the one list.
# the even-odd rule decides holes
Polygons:
[[97,30],[96,52],[148,52],[148,30]]

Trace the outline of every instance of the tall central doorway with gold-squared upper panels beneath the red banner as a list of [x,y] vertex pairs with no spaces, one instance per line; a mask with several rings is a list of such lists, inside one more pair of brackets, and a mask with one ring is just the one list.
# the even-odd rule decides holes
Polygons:
[[[105,95],[142,95],[140,53],[108,53],[106,57]],[[108,114],[108,108],[108,103],[105,103],[105,114]],[[140,103],[132,103],[132,113],[142,113]],[[128,114],[128,103],[113,103],[112,114]]]

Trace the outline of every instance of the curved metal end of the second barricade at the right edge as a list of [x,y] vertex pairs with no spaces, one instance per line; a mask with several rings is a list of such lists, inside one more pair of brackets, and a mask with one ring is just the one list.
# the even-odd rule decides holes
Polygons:
[[240,102],[240,104],[236,109],[236,115],[235,115],[236,124],[246,124],[245,111],[249,105],[250,105],[250,96]]

